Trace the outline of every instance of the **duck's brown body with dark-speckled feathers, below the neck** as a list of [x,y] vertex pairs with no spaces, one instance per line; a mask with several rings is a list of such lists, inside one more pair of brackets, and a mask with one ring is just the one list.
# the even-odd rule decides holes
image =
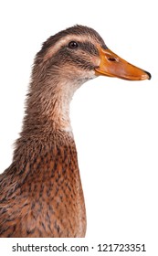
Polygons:
[[43,136],[19,139],[13,164],[1,176],[2,237],[85,236],[86,213],[74,141],[60,131],[50,130]]

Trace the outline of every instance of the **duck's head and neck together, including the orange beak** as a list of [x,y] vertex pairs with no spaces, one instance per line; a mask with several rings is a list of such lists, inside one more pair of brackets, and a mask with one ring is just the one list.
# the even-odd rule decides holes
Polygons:
[[33,123],[35,130],[35,124],[47,116],[60,129],[70,131],[69,102],[74,92],[100,75],[124,80],[151,78],[150,73],[114,54],[90,27],[69,27],[49,37],[35,58],[26,101],[26,129]]

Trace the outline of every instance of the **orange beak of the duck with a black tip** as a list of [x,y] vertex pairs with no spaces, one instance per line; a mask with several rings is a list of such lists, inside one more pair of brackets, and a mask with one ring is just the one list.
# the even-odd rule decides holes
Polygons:
[[95,69],[97,76],[120,78],[123,80],[150,80],[151,74],[121,59],[109,48],[100,48],[100,66]]

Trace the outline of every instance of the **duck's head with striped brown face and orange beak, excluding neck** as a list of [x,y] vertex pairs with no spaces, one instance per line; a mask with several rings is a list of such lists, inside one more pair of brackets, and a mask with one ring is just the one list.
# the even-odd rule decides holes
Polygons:
[[63,80],[82,83],[100,75],[123,80],[151,79],[149,72],[133,66],[107,48],[100,35],[90,27],[69,27],[49,37],[37,54],[37,62],[45,64],[49,75],[52,71]]

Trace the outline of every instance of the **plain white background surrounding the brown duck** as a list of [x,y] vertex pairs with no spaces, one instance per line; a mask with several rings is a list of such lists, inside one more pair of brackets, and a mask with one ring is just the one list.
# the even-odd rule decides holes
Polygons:
[[0,172],[12,161],[31,65],[47,37],[75,24],[93,27],[112,51],[152,73],[152,80],[134,82],[100,77],[84,84],[71,102],[87,240],[146,244],[146,253],[132,255],[158,251],[156,9],[154,0],[0,4]]

